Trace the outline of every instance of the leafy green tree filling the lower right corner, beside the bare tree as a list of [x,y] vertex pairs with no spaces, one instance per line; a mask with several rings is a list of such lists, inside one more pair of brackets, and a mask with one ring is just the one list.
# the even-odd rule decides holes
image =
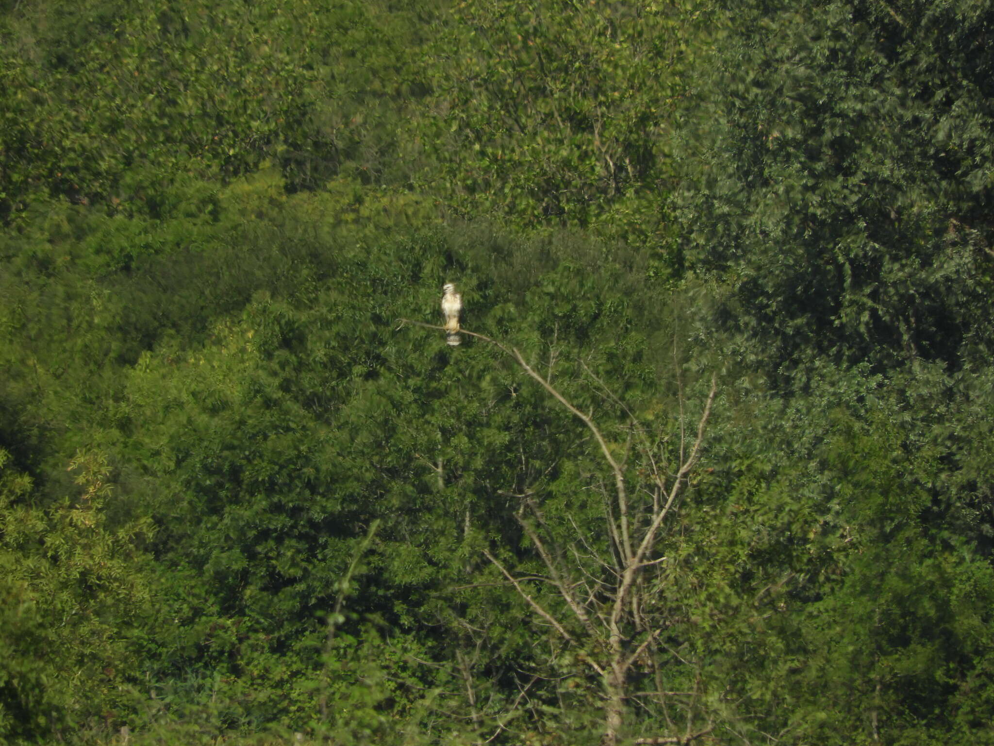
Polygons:
[[975,502],[944,485],[959,468],[903,386],[867,367],[825,366],[789,403],[730,392],[737,414],[713,428],[699,498],[713,507],[696,516],[713,538],[687,559],[715,579],[714,617],[686,654],[747,742],[977,737],[994,585],[969,533],[950,530]]

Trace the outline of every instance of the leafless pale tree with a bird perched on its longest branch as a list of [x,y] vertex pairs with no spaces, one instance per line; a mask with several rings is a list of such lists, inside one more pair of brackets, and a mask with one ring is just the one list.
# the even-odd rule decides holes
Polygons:
[[[402,319],[432,329],[443,327]],[[539,582],[552,591],[534,593],[536,577],[520,577],[501,562],[496,553],[484,549],[487,560],[497,568],[532,609],[537,618],[548,625],[563,643],[576,651],[577,659],[600,681],[603,699],[604,746],[616,746],[621,738],[629,700],[637,696],[683,696],[694,698],[694,691],[666,691],[658,675],[660,637],[665,629],[665,604],[658,600],[659,576],[665,556],[660,549],[668,520],[686,492],[692,472],[701,457],[708,420],[718,393],[717,377],[697,422],[687,427],[682,391],[679,398],[679,442],[674,446],[667,439],[649,437],[647,429],[637,421],[625,405],[599,380],[585,369],[600,389],[602,396],[619,412],[627,424],[627,444],[622,456],[616,455],[592,415],[584,414],[549,378],[530,364],[515,347],[508,346],[483,334],[460,329],[463,334],[492,344],[512,360],[533,380],[573,414],[592,436],[606,481],[598,488],[603,496],[603,525],[606,537],[591,542],[576,523],[573,536],[564,540],[548,530],[546,516],[530,489],[515,494],[519,499],[515,518],[528,536],[545,567],[545,577]],[[667,454],[671,456],[668,458]],[[672,455],[675,455],[672,456]],[[571,521],[572,522],[572,521]],[[592,568],[592,571],[591,571]],[[656,668],[657,690],[637,692],[631,688],[635,667]],[[691,709],[691,708],[688,708]],[[637,739],[638,744],[690,744],[709,737],[710,723],[697,723],[693,713],[686,718],[682,735],[660,734]]]

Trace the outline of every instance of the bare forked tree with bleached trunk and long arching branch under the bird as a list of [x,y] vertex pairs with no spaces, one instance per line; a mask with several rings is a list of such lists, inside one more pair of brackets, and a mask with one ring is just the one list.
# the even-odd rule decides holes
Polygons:
[[[401,319],[401,325],[404,324],[445,331],[442,326]],[[586,369],[586,373],[604,390],[610,403],[623,410],[630,420],[626,456],[620,461],[611,453],[603,433],[593,422],[592,414],[580,411],[559,389],[552,385],[548,378],[532,367],[517,348],[478,332],[466,329],[459,331],[466,336],[476,337],[500,349],[512,358],[529,377],[542,386],[550,396],[577,417],[593,436],[593,440],[596,441],[603,455],[604,462],[609,466],[614,477],[613,496],[609,496],[611,490],[606,484],[595,486],[604,496],[605,548],[599,552],[594,551],[586,542],[580,528],[573,522],[574,529],[580,536],[580,543],[584,549],[590,552],[589,557],[599,563],[599,567],[606,571],[602,578],[593,577],[586,572],[579,550],[574,543],[564,545],[556,539],[555,532],[546,525],[541,510],[528,490],[525,490],[523,494],[515,495],[523,500],[515,517],[549,572],[549,577],[543,580],[556,589],[559,597],[566,603],[570,611],[557,611],[554,614],[529,593],[529,590],[523,585],[524,578],[516,578],[512,575],[490,551],[484,549],[483,554],[515,587],[518,595],[525,600],[533,612],[556,630],[560,639],[567,645],[586,648],[592,653],[578,655],[578,659],[590,665],[601,677],[604,708],[603,743],[604,746],[616,746],[622,732],[626,700],[632,696],[627,691],[629,687],[628,672],[633,665],[637,664],[637,660],[644,656],[651,657],[656,646],[662,645],[660,635],[665,626],[664,620],[658,614],[653,616],[651,611],[648,614],[644,611],[647,606],[651,607],[652,604],[658,603],[645,590],[648,588],[648,584],[645,582],[646,573],[650,572],[649,568],[657,567],[665,560],[665,557],[653,557],[654,548],[667,516],[673,510],[677,498],[686,489],[690,473],[701,458],[705,431],[718,394],[717,376],[712,377],[711,391],[698,421],[697,434],[692,443],[688,442],[689,434],[685,429],[683,391],[682,386],[680,387],[679,466],[672,476],[672,481],[670,481],[665,463],[662,460],[657,463],[653,455],[654,448],[660,448],[661,445],[665,444],[665,439],[656,444],[650,444],[632,412],[589,369]],[[640,496],[639,490],[633,489],[629,505],[624,469],[627,463],[627,448],[631,448],[633,445],[634,448],[644,451],[643,463],[648,462],[650,471],[645,474],[645,478],[646,483],[651,485],[651,489],[646,491],[651,499]],[[630,510],[634,510],[631,515],[629,514]],[[534,521],[532,516],[534,516]],[[575,567],[562,559],[565,554],[564,550],[573,550],[577,558]],[[597,556],[598,553],[600,556]],[[577,580],[578,577],[580,580]],[[592,581],[592,585],[590,581]],[[574,617],[575,619],[571,622]],[[571,629],[567,629],[568,624],[573,632]],[[597,657],[597,660],[594,659],[594,656]],[[657,688],[663,689],[661,684]],[[697,733],[688,731],[684,736],[640,738],[635,743],[645,746],[649,744],[684,744],[689,746],[710,732],[711,729],[708,728]]]

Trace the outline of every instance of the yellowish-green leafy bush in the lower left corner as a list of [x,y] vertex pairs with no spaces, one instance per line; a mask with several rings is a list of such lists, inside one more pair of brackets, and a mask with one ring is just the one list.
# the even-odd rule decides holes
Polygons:
[[0,735],[13,743],[44,742],[122,704],[126,640],[149,602],[137,545],[150,521],[108,519],[104,455],[81,453],[69,468],[80,493],[41,508],[31,477],[0,450]]

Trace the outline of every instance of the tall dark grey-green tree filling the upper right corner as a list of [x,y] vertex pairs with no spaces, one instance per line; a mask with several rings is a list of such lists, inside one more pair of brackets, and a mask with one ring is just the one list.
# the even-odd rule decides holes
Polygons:
[[[912,20],[913,19],[913,20]],[[756,3],[683,148],[693,265],[769,369],[989,358],[990,9]]]

